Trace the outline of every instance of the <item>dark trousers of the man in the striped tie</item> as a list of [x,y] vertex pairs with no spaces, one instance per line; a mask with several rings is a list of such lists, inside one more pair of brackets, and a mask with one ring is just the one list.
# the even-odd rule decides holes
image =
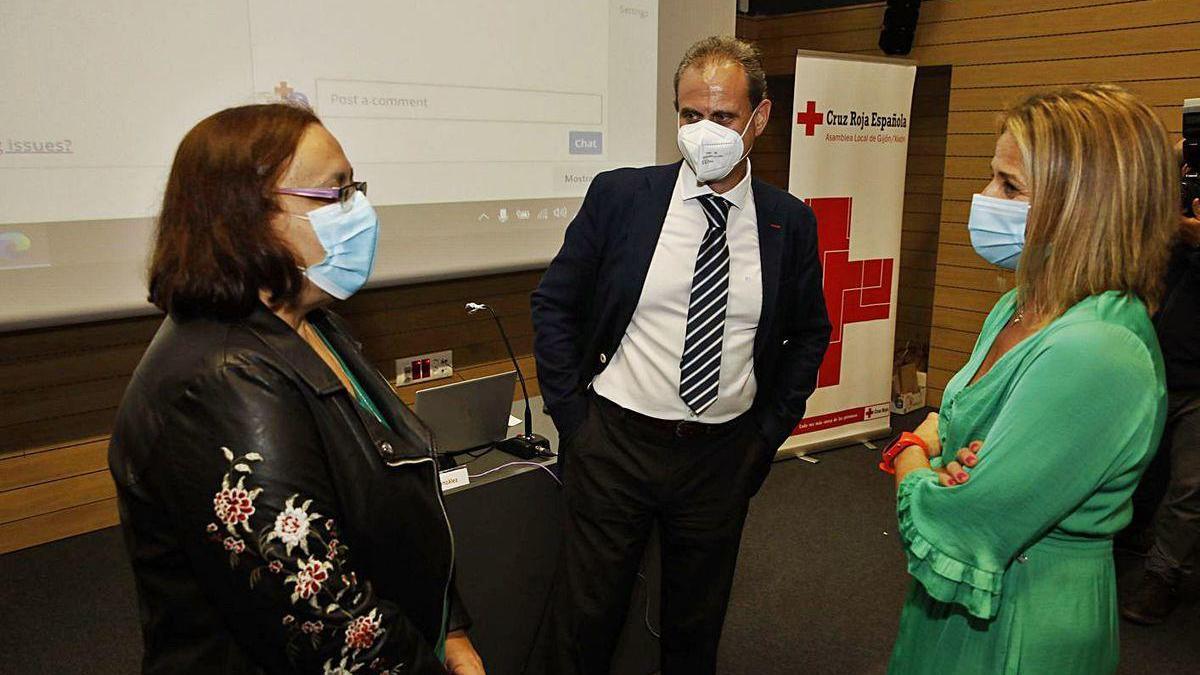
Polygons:
[[772,455],[749,416],[684,436],[592,394],[563,446],[566,532],[550,673],[605,674],[652,525],[662,551],[661,671],[714,673],[746,506]]

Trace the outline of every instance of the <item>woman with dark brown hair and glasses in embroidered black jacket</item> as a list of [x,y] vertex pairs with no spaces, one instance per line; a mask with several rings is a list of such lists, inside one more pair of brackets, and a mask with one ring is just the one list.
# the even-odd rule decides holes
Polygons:
[[143,671],[484,671],[432,442],[324,309],[377,237],[307,109],[230,108],[180,143],[150,264],[167,318],[109,447]]

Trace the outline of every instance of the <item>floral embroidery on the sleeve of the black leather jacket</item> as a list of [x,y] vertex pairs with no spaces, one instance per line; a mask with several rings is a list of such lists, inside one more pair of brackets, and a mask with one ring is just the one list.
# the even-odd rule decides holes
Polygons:
[[[299,620],[286,614],[282,625],[288,634],[288,657],[295,662],[302,644],[319,650],[326,639],[341,638],[341,658],[329,658],[325,673],[354,673],[362,668],[359,657],[371,650],[386,629],[378,608],[373,607],[370,584],[360,584],[353,571],[343,571],[348,549],[335,530],[334,519],[312,509],[312,500],[292,495],[269,526],[256,530],[251,516],[258,513],[254,501],[263,488],[253,485],[253,464],[263,461],[258,453],[235,455],[221,448],[229,468],[221,489],[212,497],[217,522],[205,527],[210,540],[229,552],[230,568],[250,568],[253,590],[264,572],[282,577],[290,589],[290,603],[302,605],[312,619]],[[251,484],[247,485],[247,482]],[[296,503],[299,502],[299,506]],[[221,530],[228,534],[222,537]],[[300,555],[294,555],[299,551]],[[374,658],[371,670],[388,671],[386,659]]]

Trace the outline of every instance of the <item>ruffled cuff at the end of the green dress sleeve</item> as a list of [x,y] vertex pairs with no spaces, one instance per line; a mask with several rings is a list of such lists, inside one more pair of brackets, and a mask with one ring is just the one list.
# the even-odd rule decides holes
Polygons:
[[908,574],[934,599],[962,605],[972,616],[991,619],[1000,608],[1003,571],[984,569],[958,560],[938,550],[920,532],[919,509],[913,508],[919,500],[917,492],[922,488],[937,485],[937,476],[928,468],[913,471],[900,482],[896,515],[908,558]]

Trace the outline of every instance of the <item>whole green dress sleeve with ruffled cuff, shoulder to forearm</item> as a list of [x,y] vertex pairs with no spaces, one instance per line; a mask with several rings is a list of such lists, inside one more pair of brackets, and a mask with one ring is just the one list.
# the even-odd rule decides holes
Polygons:
[[1136,480],[1162,432],[1157,363],[1123,327],[1063,327],[1022,359],[971,480],[947,488],[928,468],[905,476],[900,536],[930,597],[995,617],[1004,572],[1024,550],[1114,478]]

